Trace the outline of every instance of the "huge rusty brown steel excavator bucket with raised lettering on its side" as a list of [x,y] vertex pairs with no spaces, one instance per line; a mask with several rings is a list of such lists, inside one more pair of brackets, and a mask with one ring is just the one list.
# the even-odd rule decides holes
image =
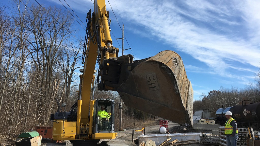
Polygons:
[[117,91],[129,107],[192,125],[193,89],[182,59],[174,51],[162,51],[142,61]]

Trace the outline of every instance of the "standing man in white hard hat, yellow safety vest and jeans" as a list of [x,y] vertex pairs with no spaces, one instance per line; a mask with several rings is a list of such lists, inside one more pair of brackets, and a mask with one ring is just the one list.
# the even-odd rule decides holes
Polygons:
[[236,146],[238,138],[237,122],[233,119],[232,112],[226,112],[226,118],[228,119],[225,123],[225,135],[227,140],[227,146]]

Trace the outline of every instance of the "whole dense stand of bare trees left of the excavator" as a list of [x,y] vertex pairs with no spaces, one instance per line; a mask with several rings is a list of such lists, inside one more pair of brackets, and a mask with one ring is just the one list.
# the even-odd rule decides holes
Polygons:
[[25,5],[16,1],[12,16],[0,6],[0,131],[12,129],[11,135],[48,124],[54,99],[71,99],[81,50],[67,47],[75,31],[67,12],[34,5],[28,11]]

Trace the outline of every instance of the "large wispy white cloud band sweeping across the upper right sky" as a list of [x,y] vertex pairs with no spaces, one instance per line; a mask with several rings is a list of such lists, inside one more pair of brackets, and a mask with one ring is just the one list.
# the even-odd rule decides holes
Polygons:
[[[258,18],[258,9],[251,9],[254,5],[247,3],[246,8],[243,8],[243,3],[239,1],[184,1],[181,4],[176,1],[116,1],[116,5],[123,19],[144,26],[150,34],[206,63],[219,75],[226,76],[228,68],[242,69],[230,62],[255,67],[258,65],[260,49],[255,45],[258,42],[255,42],[257,39],[254,37],[259,35],[252,36],[243,32],[245,36],[253,38],[243,39],[234,33],[234,30],[240,31],[240,26],[245,29],[251,28],[251,31],[252,23],[259,26],[259,19],[251,22],[244,18],[254,12]],[[247,12],[248,9],[251,11]],[[229,31],[220,33],[216,28]],[[230,76],[234,77],[232,74]]]

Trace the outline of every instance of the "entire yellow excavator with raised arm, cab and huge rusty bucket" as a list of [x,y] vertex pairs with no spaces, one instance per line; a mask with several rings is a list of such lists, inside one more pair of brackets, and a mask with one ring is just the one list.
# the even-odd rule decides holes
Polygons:
[[[91,94],[96,61],[99,90],[118,91],[129,107],[192,125],[193,89],[180,56],[168,50],[136,61],[132,55],[118,57],[119,49],[113,47],[110,37],[110,21],[105,0],[95,0],[94,12],[91,14],[90,9],[87,14],[84,69],[80,70],[78,101],[70,112],[51,114],[53,140],[70,140],[73,145],[97,145],[101,139],[116,138],[115,102],[112,99],[94,100]],[[109,113],[109,122],[98,116],[101,106]]]

